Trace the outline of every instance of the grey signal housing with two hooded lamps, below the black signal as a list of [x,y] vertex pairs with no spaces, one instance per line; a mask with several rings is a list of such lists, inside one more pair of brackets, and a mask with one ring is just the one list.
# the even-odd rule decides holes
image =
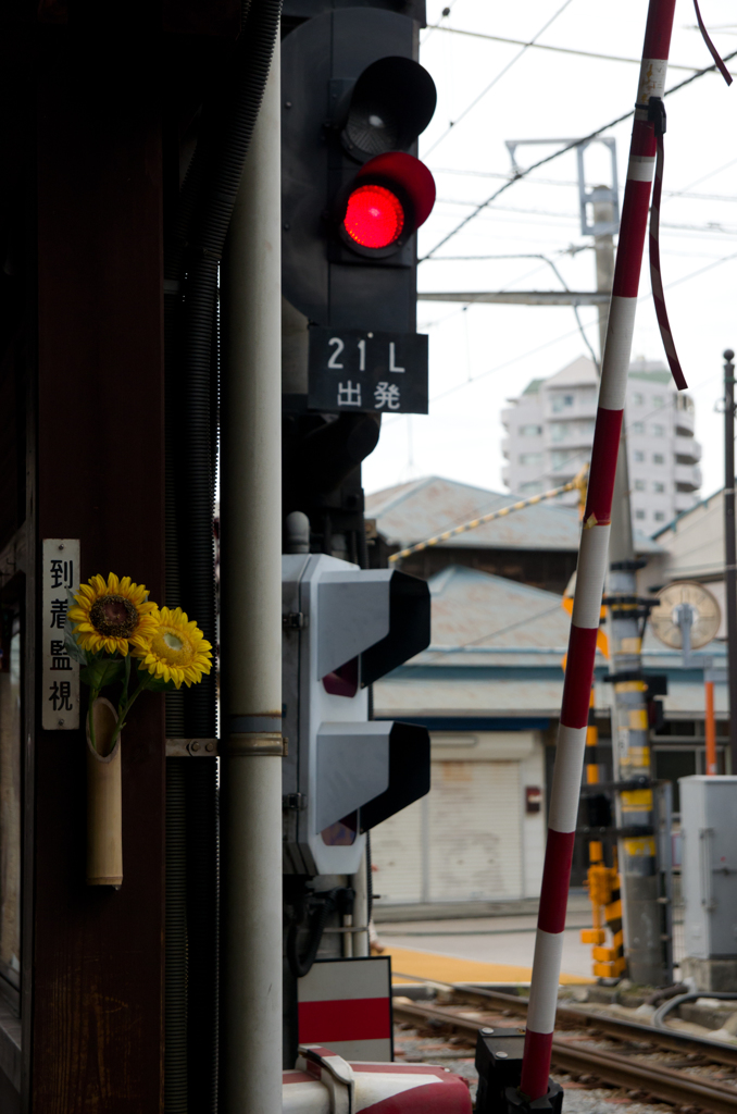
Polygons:
[[285,870],[352,874],[363,833],[430,789],[425,727],[368,720],[367,686],[430,643],[424,580],[283,558]]

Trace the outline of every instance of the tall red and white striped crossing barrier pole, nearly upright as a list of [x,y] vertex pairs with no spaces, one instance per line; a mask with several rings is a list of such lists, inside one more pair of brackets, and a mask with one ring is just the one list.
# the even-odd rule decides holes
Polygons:
[[648,119],[648,109],[651,97],[662,98],[664,95],[675,7],[676,0],[650,0],[645,31],[550,794],[548,846],[520,1083],[521,1096],[529,1100],[541,1098],[548,1093],[617,451],[656,163],[656,130]]

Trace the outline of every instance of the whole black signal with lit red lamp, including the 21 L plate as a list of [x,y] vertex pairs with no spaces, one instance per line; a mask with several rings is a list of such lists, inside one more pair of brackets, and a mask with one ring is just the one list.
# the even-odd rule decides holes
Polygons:
[[414,57],[424,6],[390,6],[299,3],[282,40],[283,506],[325,553],[363,531],[381,414],[429,405],[416,232],[435,185],[416,145],[436,95]]

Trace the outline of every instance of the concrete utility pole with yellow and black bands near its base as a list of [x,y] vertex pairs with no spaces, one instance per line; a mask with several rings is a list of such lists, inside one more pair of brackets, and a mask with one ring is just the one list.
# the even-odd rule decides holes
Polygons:
[[[596,190],[594,190],[596,197]],[[594,224],[613,219],[610,201],[593,202]],[[597,290],[611,290],[615,246],[611,233],[594,236]],[[608,307],[599,307],[599,351],[603,355]],[[641,619],[637,603],[637,569],[627,465],[627,434],[622,424],[617,459],[617,477],[611,507],[609,543],[609,645],[611,672],[622,680],[613,683],[612,760],[618,781],[646,788],[623,790],[617,800],[619,828],[651,827],[655,823],[650,781],[649,725],[646,684],[642,681]],[[655,831],[655,829],[654,829]],[[623,906],[625,946],[629,977],[635,983],[659,986],[667,979],[662,947],[662,915],[658,903],[658,870],[655,836],[626,836],[619,840],[619,868]]]

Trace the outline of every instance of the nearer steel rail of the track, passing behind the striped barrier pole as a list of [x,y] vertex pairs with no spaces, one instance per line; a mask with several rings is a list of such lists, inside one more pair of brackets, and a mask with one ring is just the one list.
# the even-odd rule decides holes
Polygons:
[[[499,997],[502,996],[499,995]],[[512,995],[503,995],[503,997],[511,998]],[[577,1020],[593,1022],[597,1028],[600,1028],[599,1018],[593,1018],[591,1015],[578,1010],[566,1012],[577,1015]],[[414,1023],[440,1022],[442,1025],[473,1037],[481,1028],[476,1019],[451,1014],[446,1009],[438,1007],[421,1006],[416,1003],[395,1001],[394,1015]],[[632,1026],[625,1023],[623,1027],[631,1028]],[[658,1030],[650,1029],[647,1025],[635,1026],[635,1028],[645,1029],[650,1043],[659,1043],[661,1034]],[[645,1037],[638,1033],[635,1039],[641,1040]],[[678,1037],[676,1040],[677,1047],[682,1049],[685,1042]],[[737,1089],[735,1087],[716,1079],[705,1081],[702,1077],[689,1075],[667,1065],[633,1061],[630,1056],[621,1056],[611,1052],[578,1048],[570,1042],[560,1038],[554,1038],[552,1042],[552,1063],[562,1071],[578,1074],[588,1073],[617,1087],[647,1091],[648,1094],[666,1102],[700,1106],[709,1111],[709,1114],[735,1114],[737,1112]]]

